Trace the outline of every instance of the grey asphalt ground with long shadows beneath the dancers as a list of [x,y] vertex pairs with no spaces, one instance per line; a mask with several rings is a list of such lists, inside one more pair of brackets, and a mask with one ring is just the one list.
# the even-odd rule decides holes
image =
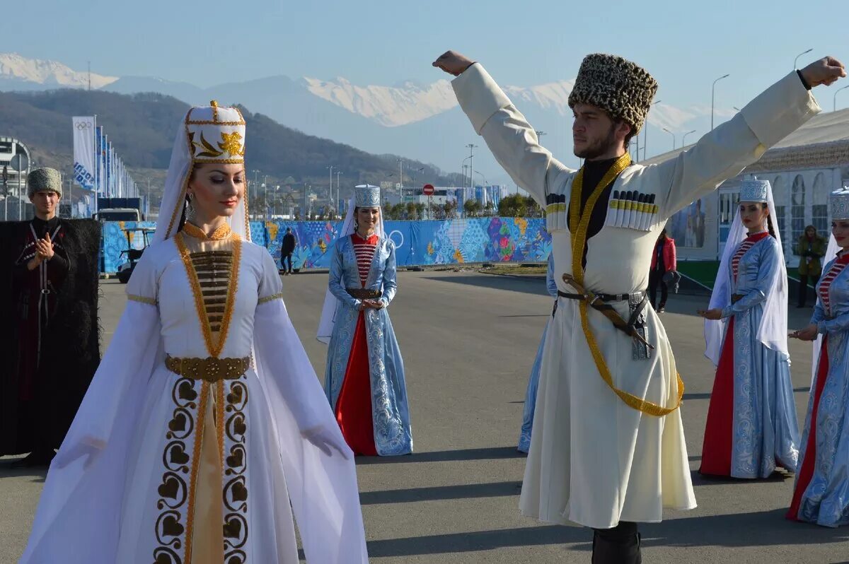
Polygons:
[[[314,336],[327,276],[284,278],[290,316],[319,374],[326,348]],[[360,458],[358,476],[371,560],[385,564],[589,562],[592,532],[520,517],[525,458],[515,451],[527,374],[551,310],[542,278],[475,272],[399,274],[391,318],[407,369],[415,454]],[[124,304],[103,282],[104,346]],[[687,386],[682,407],[689,460],[699,466],[713,369],[702,355],[706,299],[672,296],[663,316]],[[790,327],[809,312],[790,310]],[[800,425],[807,408],[810,346],[791,341]],[[0,562],[25,545],[43,472],[0,461]],[[706,480],[694,472],[699,507],[644,525],[644,561],[849,561],[849,528],[788,522],[793,478]],[[264,563],[263,563],[264,564]]]

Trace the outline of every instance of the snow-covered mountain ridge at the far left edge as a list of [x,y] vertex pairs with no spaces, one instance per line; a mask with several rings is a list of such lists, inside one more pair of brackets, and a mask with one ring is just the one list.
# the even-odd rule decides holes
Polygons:
[[[117,76],[92,73],[92,88],[103,88]],[[26,59],[18,53],[0,53],[0,89],[37,90],[37,85],[53,88],[87,88],[88,73],[71,70],[65,64],[42,59]]]

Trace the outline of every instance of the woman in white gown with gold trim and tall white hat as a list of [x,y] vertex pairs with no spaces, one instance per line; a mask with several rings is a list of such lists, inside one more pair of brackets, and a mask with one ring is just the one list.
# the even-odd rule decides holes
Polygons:
[[295,564],[293,511],[307,562],[368,561],[351,451],[246,202],[239,110],[190,109],[22,562]]

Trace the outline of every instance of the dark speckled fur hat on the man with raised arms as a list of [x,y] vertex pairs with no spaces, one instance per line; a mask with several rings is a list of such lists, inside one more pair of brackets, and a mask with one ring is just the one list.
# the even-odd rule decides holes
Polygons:
[[588,103],[613,120],[623,120],[633,133],[643,129],[657,81],[643,67],[616,55],[593,53],[584,57],[569,94],[569,107]]

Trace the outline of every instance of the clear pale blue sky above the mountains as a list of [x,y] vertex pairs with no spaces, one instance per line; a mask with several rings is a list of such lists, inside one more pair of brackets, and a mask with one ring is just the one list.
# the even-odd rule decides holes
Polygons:
[[[278,74],[430,82],[447,48],[532,86],[573,78],[586,53],[617,53],[679,107],[709,106],[725,73],[717,106],[741,106],[809,47],[800,66],[827,53],[849,64],[849,1],[22,0],[0,20],[0,52],[204,87]],[[831,109],[829,90],[818,98]]]

